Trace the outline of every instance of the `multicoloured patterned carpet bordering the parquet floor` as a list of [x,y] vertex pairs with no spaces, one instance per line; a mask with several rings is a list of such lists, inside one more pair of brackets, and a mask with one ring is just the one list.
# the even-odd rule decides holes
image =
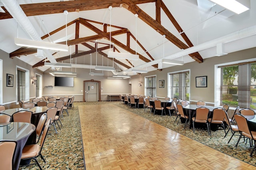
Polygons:
[[[55,133],[54,128],[51,127],[46,142],[42,151],[47,164],[38,158],[40,165],[43,169],[47,170],[82,170],[84,167],[84,157],[82,149],[82,139],[80,131],[80,119],[78,113],[78,106],[80,105],[99,105],[99,104],[110,104],[110,102],[74,102],[74,108],[68,109],[69,116],[64,111],[64,117],[61,119],[63,127],[57,129],[58,134]],[[224,138],[224,131],[212,131],[212,135],[209,136],[207,130],[196,129],[193,133],[192,129],[188,126],[184,129],[184,123],[179,123],[177,125],[174,123],[176,116],[161,116],[150,114],[148,109],[144,112],[144,109],[131,108],[124,104],[119,104],[119,102],[111,102],[118,107],[122,107],[128,111],[131,111],[141,117],[154,121],[164,127],[167,127],[173,131],[176,131],[182,135],[185,135],[191,139],[194,139],[204,145],[207,145],[213,149],[219,150],[225,154],[233,156],[239,160],[247,162],[256,166],[256,151],[252,157],[250,157],[250,152],[252,148],[249,143],[245,144],[241,139],[238,147],[236,148],[236,141],[238,136],[234,136],[230,143],[228,140],[231,137],[231,132]],[[58,128],[58,126],[57,126]],[[37,170],[38,166],[28,166],[20,168],[20,170]]]

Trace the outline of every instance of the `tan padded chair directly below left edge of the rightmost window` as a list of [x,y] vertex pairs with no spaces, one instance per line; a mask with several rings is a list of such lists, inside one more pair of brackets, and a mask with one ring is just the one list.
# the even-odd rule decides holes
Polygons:
[[224,115],[225,115],[226,109],[222,108],[222,107],[217,107],[215,109],[212,110],[212,118],[208,117],[208,122],[209,122],[209,129],[210,129],[210,135],[211,133],[211,124],[215,124],[219,127],[219,125],[221,125],[221,127],[224,129],[224,133],[226,135],[226,129],[225,129],[225,125],[224,125]]

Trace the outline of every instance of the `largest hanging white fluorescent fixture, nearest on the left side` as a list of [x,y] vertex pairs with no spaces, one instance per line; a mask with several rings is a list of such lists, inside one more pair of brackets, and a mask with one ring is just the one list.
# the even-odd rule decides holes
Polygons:
[[68,45],[49,43],[45,41],[35,41],[31,39],[14,38],[14,43],[23,47],[34,47],[39,49],[49,49],[56,51],[68,51]]

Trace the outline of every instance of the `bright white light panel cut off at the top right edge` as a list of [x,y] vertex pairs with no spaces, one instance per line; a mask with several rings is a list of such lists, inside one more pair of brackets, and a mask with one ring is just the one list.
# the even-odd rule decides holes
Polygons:
[[243,4],[240,4],[236,0],[210,0],[214,2],[215,4],[218,4],[222,6],[223,8],[226,8],[236,14],[241,14],[242,12],[245,12],[249,10],[246,6]]

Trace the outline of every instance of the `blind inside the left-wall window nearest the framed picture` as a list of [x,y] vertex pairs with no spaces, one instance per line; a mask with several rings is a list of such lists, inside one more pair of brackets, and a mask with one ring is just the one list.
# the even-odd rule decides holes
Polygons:
[[26,71],[17,70],[17,102],[26,99]]

